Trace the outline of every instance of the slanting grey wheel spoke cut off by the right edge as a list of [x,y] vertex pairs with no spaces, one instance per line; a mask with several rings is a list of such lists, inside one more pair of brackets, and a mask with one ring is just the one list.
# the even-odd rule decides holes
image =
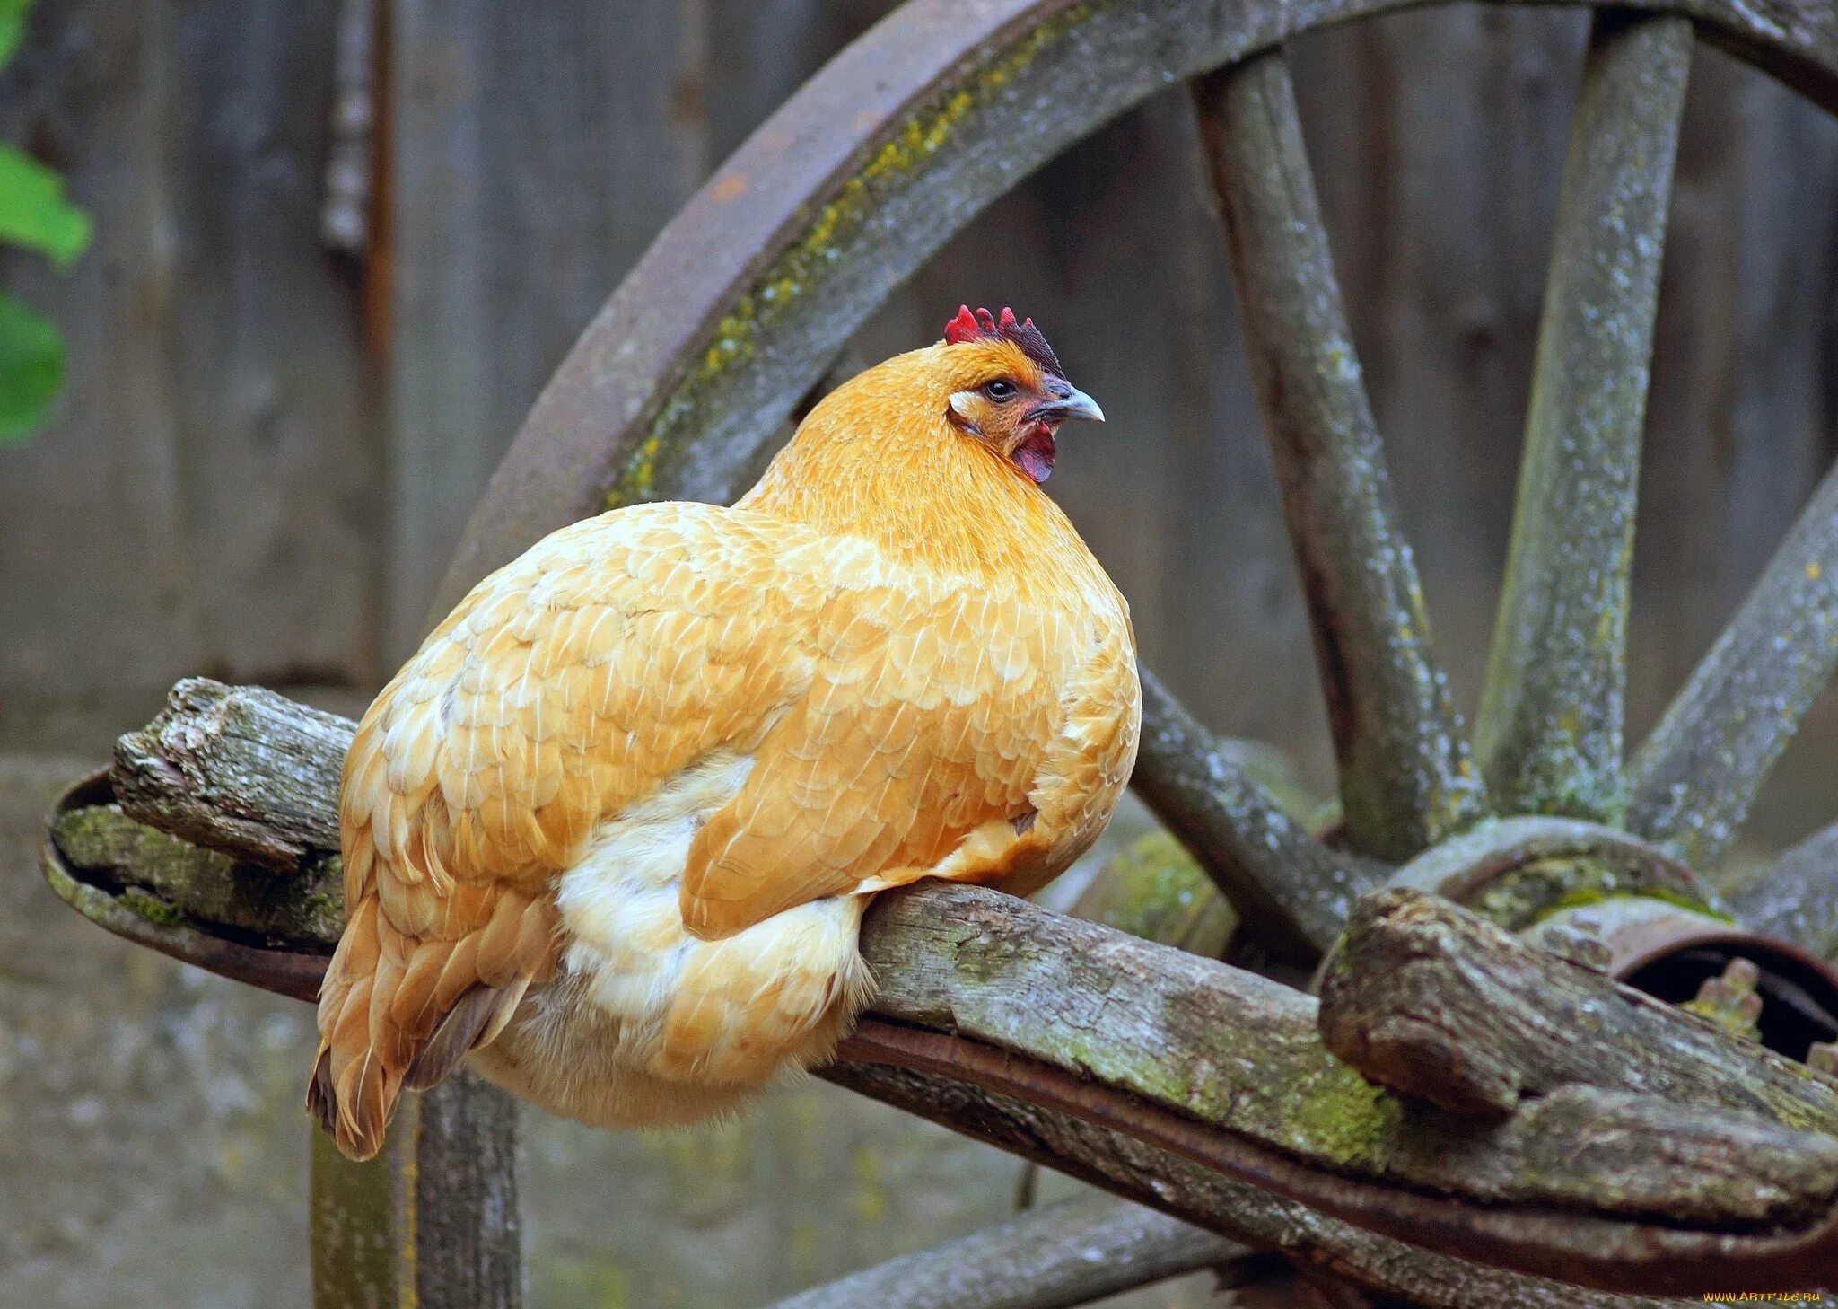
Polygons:
[[1628,768],[1628,824],[1689,864],[1730,848],[1838,666],[1838,467]]

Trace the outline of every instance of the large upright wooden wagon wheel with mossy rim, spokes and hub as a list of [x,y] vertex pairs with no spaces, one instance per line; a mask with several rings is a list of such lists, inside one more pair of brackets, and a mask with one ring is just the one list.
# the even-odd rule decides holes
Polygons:
[[[1174,79],[1197,79],[1329,702],[1340,848],[1298,831],[1149,677],[1134,785],[1246,916],[1299,950],[1334,939],[1351,899],[1384,875],[1377,860],[1417,859],[1492,814],[1586,822],[1489,825],[1491,837],[1413,866],[1415,879],[1447,890],[1487,866],[1463,897],[1492,890],[1498,906],[1502,879],[1538,868],[1542,884],[1527,890],[1540,879],[1522,877],[1505,897],[1531,919],[1601,890],[1566,877],[1603,877],[1617,844],[1711,864],[1838,662],[1838,472],[1660,728],[1625,759],[1634,493],[1673,156],[1695,37],[1838,112],[1838,13],[1820,0],[1763,9],[1649,0],[1595,17],[1470,756],[1395,522],[1281,55],[1288,37],[1399,7],[906,4],[709,178],[583,333],[482,498],[441,609],[572,518],[735,495],[855,327],[954,232],[1094,127]],[[1557,840],[1568,859],[1553,860],[1551,846],[1540,855],[1540,840]],[[1735,908],[1825,954],[1838,945],[1834,864],[1838,829],[1785,855]],[[1634,925],[1610,927],[1619,963],[1719,938],[1706,917],[1654,908],[1680,897],[1709,908],[1709,892],[1689,871],[1684,879],[1647,899]],[[1838,1002],[1794,950],[1753,938],[1735,945]],[[1724,956],[1706,958],[1715,967]],[[1685,969],[1685,984],[1696,980]],[[1810,1035],[1838,1030],[1814,1024]],[[1807,1039],[1788,1037],[1801,1055]]]

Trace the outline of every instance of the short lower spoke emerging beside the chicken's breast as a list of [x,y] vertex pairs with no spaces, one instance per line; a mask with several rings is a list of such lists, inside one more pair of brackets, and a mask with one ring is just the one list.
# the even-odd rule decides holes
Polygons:
[[1136,794],[1272,949],[1320,956],[1340,936],[1353,901],[1388,870],[1310,837],[1158,677],[1143,669],[1141,680]]

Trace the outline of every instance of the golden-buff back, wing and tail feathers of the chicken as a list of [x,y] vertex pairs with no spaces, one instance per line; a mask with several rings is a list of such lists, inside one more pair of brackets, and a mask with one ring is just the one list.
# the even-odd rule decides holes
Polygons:
[[[1103,768],[1134,757],[1125,610],[1095,563],[1073,572],[1049,581],[1088,594],[1038,603],[1038,579],[891,561],[770,504],[654,504],[480,583],[346,759],[351,917],[309,1092],[338,1145],[375,1153],[404,1085],[496,1035],[557,967],[555,884],[596,825],[715,750],[754,763],[689,844],[682,914],[704,938],[926,873],[996,881],[1095,835],[1035,822],[1068,713],[1112,719]],[[1114,702],[1073,704],[1094,662]]]

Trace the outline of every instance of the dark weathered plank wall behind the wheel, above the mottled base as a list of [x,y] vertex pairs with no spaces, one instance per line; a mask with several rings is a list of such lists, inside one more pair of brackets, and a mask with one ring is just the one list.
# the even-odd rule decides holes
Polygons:
[[[0,743],[85,743],[187,671],[360,697],[412,647],[544,377],[709,167],[886,9],[388,0],[380,246],[318,233],[335,0],[46,0],[0,129],[97,217],[59,421],[0,452]],[[1472,695],[1584,17],[1448,7],[1294,51],[1439,643]],[[864,333],[959,300],[1044,322],[1114,415],[1055,478],[1143,647],[1322,776],[1312,675],[1231,290],[1171,92],[1048,165]],[[1700,57],[1654,370],[1636,719],[1834,449],[1838,129]],[[1831,715],[1823,719],[1831,724]],[[1829,732],[1825,734],[1831,735]],[[1801,746],[1783,789],[1831,759]],[[1325,781],[1325,778],[1323,778]],[[1810,822],[1807,814],[1805,822]],[[1803,825],[1803,824],[1801,824]]]

